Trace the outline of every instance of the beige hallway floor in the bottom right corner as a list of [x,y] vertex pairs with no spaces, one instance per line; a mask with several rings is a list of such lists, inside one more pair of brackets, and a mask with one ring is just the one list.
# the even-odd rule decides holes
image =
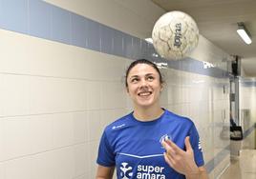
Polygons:
[[238,159],[232,159],[220,179],[256,179],[256,149],[241,150]]

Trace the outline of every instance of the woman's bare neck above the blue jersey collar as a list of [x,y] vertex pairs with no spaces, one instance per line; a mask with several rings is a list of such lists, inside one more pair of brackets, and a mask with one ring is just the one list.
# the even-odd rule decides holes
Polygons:
[[163,113],[163,109],[159,108],[140,108],[134,110],[134,116],[139,121],[154,121]]

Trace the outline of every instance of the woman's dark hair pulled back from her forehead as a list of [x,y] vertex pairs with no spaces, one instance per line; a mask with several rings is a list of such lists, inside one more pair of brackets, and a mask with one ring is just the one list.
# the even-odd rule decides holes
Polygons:
[[146,64],[146,65],[149,65],[149,66],[153,67],[155,70],[157,70],[159,75],[160,75],[160,84],[163,84],[163,79],[162,79],[162,76],[161,76],[161,73],[160,73],[160,70],[159,70],[158,66],[156,64],[154,64],[153,62],[147,60],[147,59],[138,59],[138,60],[132,62],[130,64],[130,66],[128,67],[128,69],[126,70],[126,73],[125,73],[125,86],[126,86],[126,88],[128,87],[127,77],[129,75],[129,72],[130,72],[130,70],[132,70],[138,64]]

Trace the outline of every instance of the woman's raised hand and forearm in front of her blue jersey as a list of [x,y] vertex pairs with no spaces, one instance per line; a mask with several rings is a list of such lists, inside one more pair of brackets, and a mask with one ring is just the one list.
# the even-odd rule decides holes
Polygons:
[[194,151],[190,145],[189,137],[185,138],[186,151],[180,149],[170,140],[162,142],[166,149],[164,159],[167,164],[186,176],[186,179],[207,179],[207,172],[204,167],[198,167],[194,160]]

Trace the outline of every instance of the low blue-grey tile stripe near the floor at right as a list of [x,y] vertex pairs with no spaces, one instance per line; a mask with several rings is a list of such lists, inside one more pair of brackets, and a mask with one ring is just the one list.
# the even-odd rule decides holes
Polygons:
[[[253,132],[254,129],[256,129],[256,123],[252,125],[249,129],[246,129],[244,131],[244,139],[249,134],[251,134],[251,132]],[[205,168],[207,169],[207,172],[210,173],[213,169],[215,169],[229,153],[230,153],[230,145],[222,149],[214,158],[212,158],[210,161],[208,161],[205,164]]]

